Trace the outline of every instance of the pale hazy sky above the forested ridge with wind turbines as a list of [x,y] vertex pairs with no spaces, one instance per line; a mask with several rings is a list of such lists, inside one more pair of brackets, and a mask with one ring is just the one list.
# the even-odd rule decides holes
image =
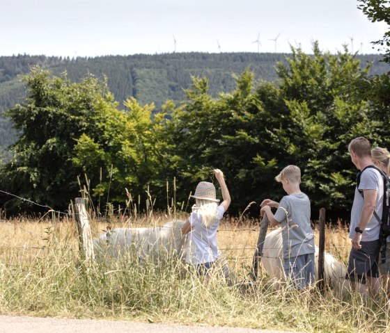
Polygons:
[[[0,56],[104,56],[172,52],[336,53],[389,27],[357,0],[0,0]],[[379,52],[381,53],[381,52]]]

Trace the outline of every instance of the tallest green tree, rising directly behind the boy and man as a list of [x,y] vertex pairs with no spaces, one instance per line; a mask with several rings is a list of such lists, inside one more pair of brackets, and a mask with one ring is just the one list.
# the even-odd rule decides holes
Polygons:
[[283,152],[279,163],[301,166],[302,186],[315,209],[325,206],[343,214],[354,188],[348,143],[356,136],[381,141],[381,123],[360,94],[369,67],[361,69],[347,49],[336,55],[323,53],[316,42],[313,56],[299,49],[292,49],[292,55],[287,65],[278,67],[286,117],[274,130],[271,145]]

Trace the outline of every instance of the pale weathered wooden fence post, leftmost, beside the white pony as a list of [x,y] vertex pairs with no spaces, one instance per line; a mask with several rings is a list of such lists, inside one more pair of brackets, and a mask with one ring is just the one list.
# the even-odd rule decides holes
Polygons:
[[77,197],[75,200],[75,220],[79,234],[81,258],[94,260],[95,252],[93,252],[91,225],[89,224],[88,213],[86,212],[85,200],[82,197]]

